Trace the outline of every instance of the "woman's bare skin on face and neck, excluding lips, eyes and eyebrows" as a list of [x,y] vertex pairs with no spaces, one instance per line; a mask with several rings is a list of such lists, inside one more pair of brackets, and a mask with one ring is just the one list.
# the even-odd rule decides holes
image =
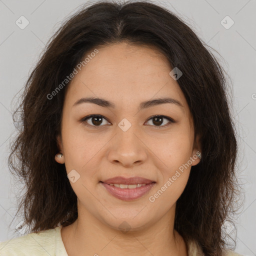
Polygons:
[[[183,238],[173,228],[174,213],[191,165],[199,158],[154,202],[149,201],[149,196],[199,150],[185,97],[169,75],[172,68],[167,59],[157,49],[126,42],[97,49],[68,85],[57,137],[63,156],[55,160],[65,164],[67,173],[75,169],[80,175],[70,182],[77,195],[78,218],[61,229],[66,251],[69,256],[84,252],[100,256],[187,255]],[[73,106],[81,97],[90,96],[109,100],[115,108],[95,103]],[[163,103],[138,111],[141,101],[166,96],[182,106]],[[92,118],[80,121],[90,114],[104,119],[101,123]],[[164,118],[155,123],[150,119],[154,115],[175,122]],[[126,131],[118,126],[123,118],[131,123]],[[110,195],[99,182],[119,175],[141,176],[156,183],[142,197],[124,201]],[[127,232],[119,228],[123,221],[129,227]]]

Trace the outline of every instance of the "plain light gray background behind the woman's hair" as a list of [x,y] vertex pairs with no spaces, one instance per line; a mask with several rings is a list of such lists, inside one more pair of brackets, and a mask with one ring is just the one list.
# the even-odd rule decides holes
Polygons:
[[[45,43],[61,21],[79,9],[84,0],[0,0],[0,241],[20,236],[14,232],[22,216],[15,216],[19,185],[14,186],[7,168],[9,141],[15,131],[11,113]],[[95,2],[95,1],[94,1]],[[155,1],[183,18],[197,35],[218,53],[233,86],[232,113],[239,133],[239,178],[243,183],[244,206],[235,219],[237,246],[243,255],[256,255],[256,2],[255,0],[169,0]],[[21,16],[29,24],[20,29]],[[226,16],[234,24],[226,29]],[[226,25],[230,20],[224,19]],[[12,100],[13,99],[13,100]],[[11,101],[12,100],[12,101]],[[242,198],[243,199],[243,198]],[[14,220],[13,220],[14,219]],[[12,222],[11,228],[8,224]],[[232,227],[227,226],[227,230]]]

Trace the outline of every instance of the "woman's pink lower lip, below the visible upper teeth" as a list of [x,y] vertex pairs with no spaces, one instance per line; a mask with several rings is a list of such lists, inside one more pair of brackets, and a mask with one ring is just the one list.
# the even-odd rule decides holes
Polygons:
[[130,201],[141,197],[142,195],[146,194],[155,182],[151,182],[149,184],[145,184],[144,186],[136,187],[136,188],[120,188],[112,185],[108,185],[106,183],[100,182],[106,190],[113,195],[114,197]]

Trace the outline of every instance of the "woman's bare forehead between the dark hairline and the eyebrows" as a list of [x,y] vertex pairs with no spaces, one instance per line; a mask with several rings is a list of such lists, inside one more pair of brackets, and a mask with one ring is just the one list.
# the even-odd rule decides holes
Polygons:
[[188,108],[177,81],[169,75],[168,60],[155,47],[122,42],[97,50],[68,85],[66,101],[70,104],[83,96],[107,98],[116,105],[172,97]]

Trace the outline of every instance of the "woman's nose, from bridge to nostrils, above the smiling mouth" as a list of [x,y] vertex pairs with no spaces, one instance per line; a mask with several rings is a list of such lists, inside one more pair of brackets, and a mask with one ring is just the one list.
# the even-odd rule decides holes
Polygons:
[[107,158],[110,162],[124,167],[139,165],[146,160],[147,147],[134,125],[126,131],[117,126],[116,134],[109,143]]

